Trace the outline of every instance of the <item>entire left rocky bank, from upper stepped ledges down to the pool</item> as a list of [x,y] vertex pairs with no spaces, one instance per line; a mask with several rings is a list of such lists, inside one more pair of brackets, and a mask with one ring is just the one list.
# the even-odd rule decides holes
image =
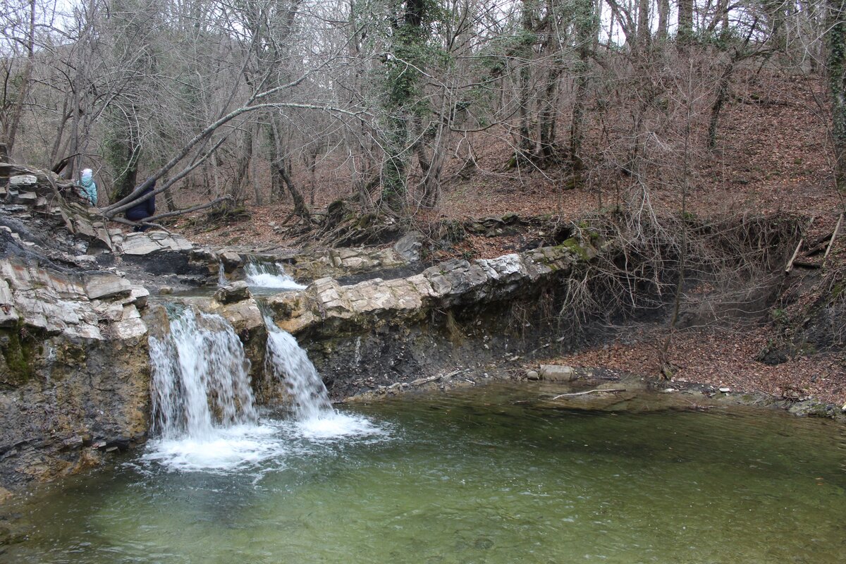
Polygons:
[[149,291],[115,265],[146,283],[171,255],[211,262],[178,236],[107,229],[39,178],[0,188],[0,499],[146,437]]

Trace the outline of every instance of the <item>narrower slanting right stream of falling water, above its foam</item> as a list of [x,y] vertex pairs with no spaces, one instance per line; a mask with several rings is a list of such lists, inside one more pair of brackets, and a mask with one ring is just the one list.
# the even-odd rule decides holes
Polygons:
[[311,364],[308,354],[299,347],[297,340],[273,323],[265,315],[267,327],[266,370],[285,383],[291,398],[294,417],[299,421],[320,419],[333,414],[329,395]]

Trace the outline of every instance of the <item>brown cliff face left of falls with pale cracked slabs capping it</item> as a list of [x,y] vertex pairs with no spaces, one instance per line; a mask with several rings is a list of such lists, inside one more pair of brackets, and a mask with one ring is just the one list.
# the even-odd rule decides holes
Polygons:
[[113,274],[0,259],[0,484],[72,472],[144,436],[146,298]]

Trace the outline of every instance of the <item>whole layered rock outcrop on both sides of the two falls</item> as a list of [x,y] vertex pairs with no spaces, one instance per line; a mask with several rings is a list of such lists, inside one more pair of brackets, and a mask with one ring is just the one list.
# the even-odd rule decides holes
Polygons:
[[[553,307],[560,279],[597,252],[569,241],[420,271],[421,236],[410,234],[386,249],[250,257],[162,231],[108,229],[80,202],[45,189],[48,180],[15,180],[0,208],[0,488],[74,472],[146,438],[147,337],[168,325],[148,301],[166,286],[217,287],[262,259],[283,261],[301,281],[318,278],[269,306],[341,398],[437,382],[442,370],[470,379],[471,369],[484,374],[486,363],[536,348],[550,326],[526,312]],[[226,317],[259,397],[270,397],[264,319],[244,282],[214,297],[168,299]]]

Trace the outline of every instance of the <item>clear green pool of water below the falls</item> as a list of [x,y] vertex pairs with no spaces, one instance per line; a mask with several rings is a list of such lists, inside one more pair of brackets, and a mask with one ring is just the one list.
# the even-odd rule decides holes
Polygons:
[[843,425],[518,401],[538,390],[343,408],[369,426],[342,436],[268,418],[255,462],[136,453],[13,507],[0,561],[846,561]]

